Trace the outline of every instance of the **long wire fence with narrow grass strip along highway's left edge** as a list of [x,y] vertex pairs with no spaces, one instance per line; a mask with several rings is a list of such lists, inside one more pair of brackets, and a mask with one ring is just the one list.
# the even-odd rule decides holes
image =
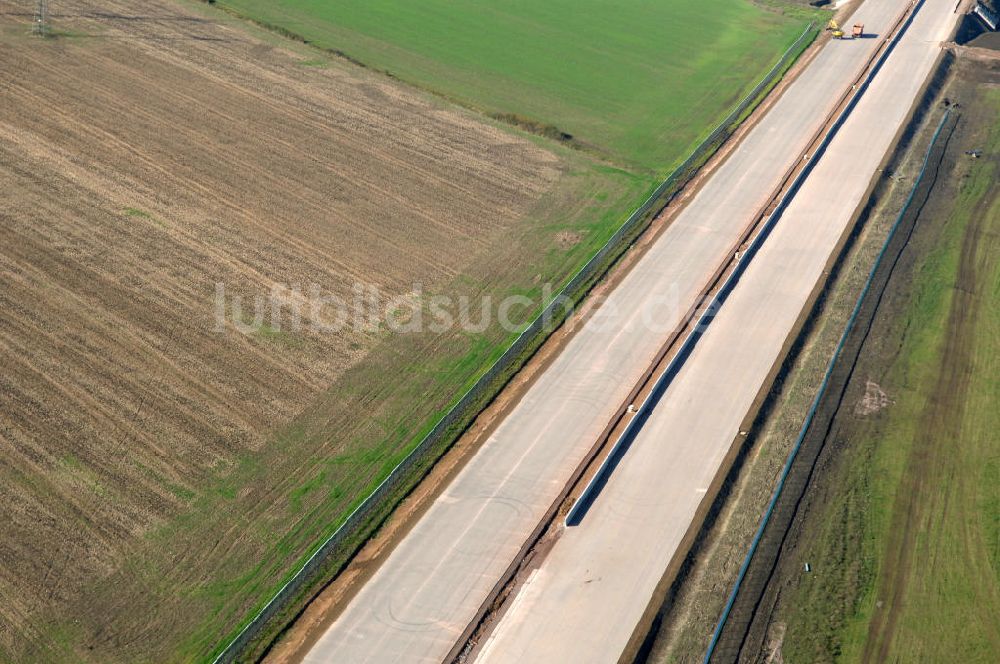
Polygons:
[[810,22],[764,77],[626,218],[618,230],[570,277],[528,327],[511,342],[503,354],[476,379],[461,398],[453,403],[420,442],[397,463],[371,493],[358,503],[334,532],[319,544],[298,570],[288,577],[277,593],[212,658],[214,664],[236,661],[243,649],[260,635],[268,621],[282,609],[287,608],[286,604],[297,598],[298,593],[312,581],[313,574],[322,568],[330,554],[345,544],[348,537],[354,534],[355,528],[368,521],[375,509],[380,506],[380,501],[390,495],[406,479],[414,479],[407,477],[408,471],[421,462],[427,461],[433,452],[440,455],[443,450],[439,448],[449,438],[449,434],[451,438],[454,438],[461,431],[464,431],[469,421],[482,410],[482,406],[495,397],[511,376],[520,370],[538,345],[562,324],[567,315],[563,305],[567,301],[578,302],[586,295],[593,284],[631,246],[637,233],[643,230],[643,225],[651,221],[673,200],[686,182],[685,177],[696,172],[714,150],[728,139],[742,119],[743,114],[759,100],[768,86],[777,80],[778,75],[805,50],[817,34],[815,23]]

